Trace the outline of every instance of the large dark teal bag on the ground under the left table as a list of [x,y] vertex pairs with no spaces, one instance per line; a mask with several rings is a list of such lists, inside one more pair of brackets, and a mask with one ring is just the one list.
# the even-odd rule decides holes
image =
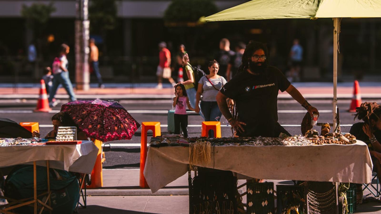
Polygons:
[[[46,167],[37,166],[37,195],[48,190],[46,180]],[[74,211],[79,200],[78,179],[72,173],[60,169],[50,169],[50,200],[53,208],[52,214],[70,214]],[[33,165],[16,166],[6,177],[4,195],[13,199],[33,197]],[[46,200],[46,194],[40,196],[41,201]],[[40,205],[39,208],[42,208]],[[30,206],[14,209],[18,213],[33,213]],[[43,213],[48,213],[44,209]]]

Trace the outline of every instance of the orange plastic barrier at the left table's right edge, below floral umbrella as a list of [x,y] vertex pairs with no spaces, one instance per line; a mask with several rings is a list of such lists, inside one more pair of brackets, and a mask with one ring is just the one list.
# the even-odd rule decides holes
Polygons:
[[103,172],[102,163],[106,160],[104,157],[104,152],[102,152],[102,141],[93,140],[96,147],[98,147],[98,156],[94,164],[93,171],[91,172],[91,184],[87,188],[98,188],[103,187]]

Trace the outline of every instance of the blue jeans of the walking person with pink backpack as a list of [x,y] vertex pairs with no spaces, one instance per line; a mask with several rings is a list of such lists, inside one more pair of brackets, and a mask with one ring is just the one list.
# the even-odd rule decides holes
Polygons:
[[62,87],[65,88],[67,94],[69,95],[70,101],[76,100],[73,86],[69,78],[69,72],[62,71],[61,73],[53,74],[53,77],[53,85],[51,86],[49,93],[49,102],[51,102],[56,95],[59,84],[62,84]]

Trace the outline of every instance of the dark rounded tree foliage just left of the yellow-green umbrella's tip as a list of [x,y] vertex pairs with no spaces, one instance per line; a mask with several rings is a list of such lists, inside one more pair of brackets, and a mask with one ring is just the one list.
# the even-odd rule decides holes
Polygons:
[[166,22],[196,22],[202,16],[217,13],[211,0],[173,0],[164,13]]

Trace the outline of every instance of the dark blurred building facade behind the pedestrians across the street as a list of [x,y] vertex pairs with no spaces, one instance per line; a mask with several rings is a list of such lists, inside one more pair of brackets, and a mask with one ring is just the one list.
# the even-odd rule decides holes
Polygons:
[[[33,65],[27,62],[28,46],[33,43],[33,30],[26,27],[21,16],[22,5],[54,3],[56,11],[43,29],[40,66],[53,62],[61,43],[74,46],[75,0],[0,0],[0,75],[30,81]],[[246,0],[216,0],[224,10]],[[178,46],[184,44],[192,64],[206,69],[213,60],[221,38],[231,40],[231,50],[238,42],[259,40],[267,43],[271,64],[283,72],[289,68],[289,53],[294,38],[304,48],[304,80],[331,81],[332,28],[331,19],[262,20],[211,22],[197,26],[165,23],[163,14],[170,0],[120,0],[117,2],[118,24],[107,38],[91,34],[100,50],[102,77],[106,81],[155,80],[160,41],[168,43],[173,58]],[[340,34],[339,69],[342,76],[360,77],[381,72],[381,19],[343,19]],[[107,52],[106,51],[107,48]],[[74,48],[72,49],[74,51]],[[68,56],[74,75],[74,53]],[[176,61],[173,59],[173,63]],[[29,77],[29,78],[28,78]]]

